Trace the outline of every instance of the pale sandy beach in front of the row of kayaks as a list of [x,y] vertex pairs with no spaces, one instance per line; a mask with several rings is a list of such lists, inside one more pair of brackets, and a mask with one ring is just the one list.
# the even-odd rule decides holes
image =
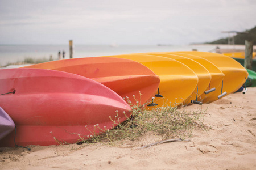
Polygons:
[[191,142],[157,142],[154,135],[119,146],[100,143],[0,148],[0,169],[256,169],[256,88],[230,94],[188,111],[207,110],[209,131],[195,130]]

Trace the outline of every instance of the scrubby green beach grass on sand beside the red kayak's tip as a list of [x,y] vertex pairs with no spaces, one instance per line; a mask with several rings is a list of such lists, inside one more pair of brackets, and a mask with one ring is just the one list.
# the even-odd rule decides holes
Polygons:
[[127,116],[125,122],[118,122],[118,111],[116,111],[117,116],[111,118],[113,125],[118,124],[115,128],[108,130],[94,125],[95,131],[100,129],[104,133],[97,134],[92,131],[90,139],[82,140],[80,137],[82,140],[80,143],[101,142],[117,145],[127,140],[134,141],[147,134],[153,134],[161,139],[174,137],[185,139],[191,137],[194,129],[210,130],[204,125],[206,111],[202,109],[187,111],[184,106],[173,107],[172,105],[155,108],[152,111],[147,111],[139,105],[131,105],[131,108],[131,116]]

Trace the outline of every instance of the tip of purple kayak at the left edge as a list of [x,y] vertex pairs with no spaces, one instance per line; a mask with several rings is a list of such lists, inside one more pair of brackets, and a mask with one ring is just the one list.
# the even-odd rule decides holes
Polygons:
[[0,107],[0,140],[15,129],[11,117]]

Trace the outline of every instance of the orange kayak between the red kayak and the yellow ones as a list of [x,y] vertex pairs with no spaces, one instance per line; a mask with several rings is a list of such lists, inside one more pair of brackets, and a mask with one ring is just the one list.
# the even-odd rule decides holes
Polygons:
[[[90,78],[131,103],[143,105],[158,91],[160,79],[141,63],[122,58],[86,57],[40,63],[24,68],[51,69]],[[142,94],[142,95],[141,95]]]

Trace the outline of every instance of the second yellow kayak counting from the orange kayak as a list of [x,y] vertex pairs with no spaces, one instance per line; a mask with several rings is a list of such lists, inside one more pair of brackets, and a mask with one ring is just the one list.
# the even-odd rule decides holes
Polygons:
[[212,78],[209,71],[207,69],[205,69],[205,67],[203,65],[201,65],[200,63],[198,63],[196,61],[193,61],[192,59],[177,56],[174,54],[166,54],[166,53],[144,53],[144,54],[175,59],[176,61],[183,63],[184,65],[188,66],[191,70],[193,70],[198,77],[197,87],[195,88],[195,90],[193,91],[191,96],[189,96],[184,101],[184,104],[189,104],[189,103],[191,103],[191,101],[192,101],[192,103],[201,104],[196,101],[201,101],[200,96],[201,96],[201,94],[204,93],[204,91],[207,90],[207,88],[209,87],[210,79]]

